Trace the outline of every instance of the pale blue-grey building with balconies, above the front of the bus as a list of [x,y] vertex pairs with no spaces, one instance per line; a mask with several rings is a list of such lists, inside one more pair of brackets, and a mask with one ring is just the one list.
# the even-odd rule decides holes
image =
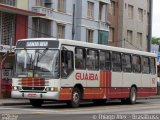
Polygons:
[[46,14],[29,19],[29,37],[57,37],[108,44],[110,0],[32,0],[29,9]]

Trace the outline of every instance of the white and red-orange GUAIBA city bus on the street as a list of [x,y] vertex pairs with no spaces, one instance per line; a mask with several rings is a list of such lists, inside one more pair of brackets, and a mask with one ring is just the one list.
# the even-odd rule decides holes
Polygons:
[[57,38],[21,39],[15,48],[13,98],[29,99],[33,107],[44,101],[108,99],[135,104],[157,93],[154,53]]

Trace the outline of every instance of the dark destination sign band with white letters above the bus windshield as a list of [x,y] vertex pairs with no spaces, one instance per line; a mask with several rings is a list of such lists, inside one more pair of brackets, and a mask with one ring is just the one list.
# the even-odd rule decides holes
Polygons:
[[26,40],[18,41],[16,48],[58,48],[59,41],[56,40]]

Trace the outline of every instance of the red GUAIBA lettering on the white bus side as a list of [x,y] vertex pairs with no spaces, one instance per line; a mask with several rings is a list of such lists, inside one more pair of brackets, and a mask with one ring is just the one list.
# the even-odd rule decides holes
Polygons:
[[98,75],[93,73],[76,73],[76,80],[98,80]]

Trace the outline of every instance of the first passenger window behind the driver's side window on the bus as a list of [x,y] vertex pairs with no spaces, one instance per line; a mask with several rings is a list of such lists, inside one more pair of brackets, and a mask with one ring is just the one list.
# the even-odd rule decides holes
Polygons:
[[86,69],[86,49],[85,48],[75,49],[75,68]]

